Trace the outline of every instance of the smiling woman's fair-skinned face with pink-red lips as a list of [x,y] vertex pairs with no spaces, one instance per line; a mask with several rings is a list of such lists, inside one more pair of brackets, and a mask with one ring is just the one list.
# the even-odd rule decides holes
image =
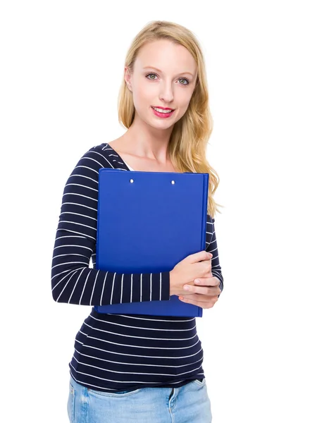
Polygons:
[[[132,74],[125,68],[125,80],[132,91],[135,118],[166,129],[187,110],[197,82],[197,63],[185,47],[161,39],[144,44]],[[160,114],[154,107],[174,111]]]

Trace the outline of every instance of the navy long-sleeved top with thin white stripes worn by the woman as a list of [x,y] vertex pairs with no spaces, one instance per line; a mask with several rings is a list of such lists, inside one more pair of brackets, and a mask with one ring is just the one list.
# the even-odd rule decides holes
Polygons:
[[[152,300],[169,300],[169,271],[118,274],[96,269],[98,176],[104,167],[131,169],[103,142],[83,154],[64,187],[51,267],[52,296],[56,302],[87,306],[116,304],[121,298],[149,301],[150,292]],[[214,219],[209,215],[206,251],[213,253],[211,271],[223,290]],[[135,286],[142,296],[130,295],[131,280],[138,281]],[[68,366],[79,384],[115,392],[174,388],[203,379],[202,360],[195,317],[101,314],[92,307],[77,331]]]

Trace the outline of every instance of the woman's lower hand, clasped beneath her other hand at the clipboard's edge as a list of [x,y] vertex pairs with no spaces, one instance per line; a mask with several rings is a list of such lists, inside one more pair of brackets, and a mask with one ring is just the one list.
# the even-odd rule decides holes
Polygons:
[[186,293],[184,296],[180,295],[179,299],[182,302],[197,305],[203,309],[211,308],[218,301],[218,295],[221,294],[219,282],[216,276],[197,278],[194,284],[189,283],[183,286]]

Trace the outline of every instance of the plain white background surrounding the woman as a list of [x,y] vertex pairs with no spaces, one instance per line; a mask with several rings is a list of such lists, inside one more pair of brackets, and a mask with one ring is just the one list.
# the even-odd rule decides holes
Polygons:
[[[1,415],[66,422],[68,362],[91,307],[51,298],[63,188],[125,130],[118,89],[150,20],[204,50],[221,183],[224,290],[197,319],[214,423],[328,423],[326,1],[3,1]],[[156,422],[155,422],[156,423]]]

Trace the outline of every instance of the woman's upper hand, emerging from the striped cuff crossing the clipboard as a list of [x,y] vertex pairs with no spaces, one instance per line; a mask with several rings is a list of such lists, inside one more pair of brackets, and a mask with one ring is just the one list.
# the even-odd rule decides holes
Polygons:
[[186,295],[184,285],[194,284],[197,278],[211,278],[211,257],[211,253],[200,251],[176,264],[170,271],[170,295]]

